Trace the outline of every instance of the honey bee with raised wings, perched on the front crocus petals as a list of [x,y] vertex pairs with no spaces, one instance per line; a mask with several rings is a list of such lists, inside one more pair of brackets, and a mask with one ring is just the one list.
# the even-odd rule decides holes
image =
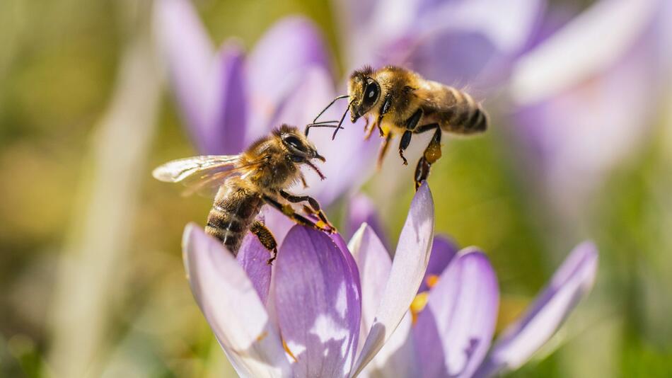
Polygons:
[[[185,183],[188,193],[219,186],[208,214],[206,233],[219,239],[235,256],[243,237],[251,231],[272,253],[270,264],[277,256],[277,242],[271,231],[256,219],[263,205],[275,207],[298,224],[335,232],[315,199],[286,192],[286,188],[298,181],[307,186],[299,169],[301,164],[312,168],[324,180],[313,159],[325,161],[296,127],[282,125],[251,144],[242,154],[173,160],[154,169],[152,176],[168,183]],[[304,203],[303,212],[308,217],[297,213],[280,197],[291,203],[307,202],[309,206]]]

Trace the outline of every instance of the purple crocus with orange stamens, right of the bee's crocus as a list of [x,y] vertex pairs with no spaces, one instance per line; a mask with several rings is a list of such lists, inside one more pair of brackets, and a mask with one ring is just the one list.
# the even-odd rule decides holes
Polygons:
[[[371,243],[374,236],[369,227],[360,229],[354,244],[365,240],[366,247],[354,248],[353,253],[356,259],[364,254],[368,264],[384,272],[390,259],[379,243]],[[477,248],[458,252],[455,244],[437,236],[424,285],[410,316],[366,367],[364,375],[491,377],[514,370],[553,336],[591,288],[596,268],[595,246],[577,246],[521,319],[491,345],[499,303],[494,270]],[[374,285],[378,280],[364,272],[362,297],[375,297],[381,290],[380,285]],[[362,309],[362,316],[366,318],[366,309]]]

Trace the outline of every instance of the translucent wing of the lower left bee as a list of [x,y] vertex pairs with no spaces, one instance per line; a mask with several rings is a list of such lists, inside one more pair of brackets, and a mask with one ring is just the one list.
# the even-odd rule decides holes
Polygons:
[[167,183],[183,183],[187,190],[183,195],[205,193],[218,188],[227,178],[242,176],[258,168],[264,158],[240,164],[240,155],[193,156],[168,161],[152,171],[152,176]]

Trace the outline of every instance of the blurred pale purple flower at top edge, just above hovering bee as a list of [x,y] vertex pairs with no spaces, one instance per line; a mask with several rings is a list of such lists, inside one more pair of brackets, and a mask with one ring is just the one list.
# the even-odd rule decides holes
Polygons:
[[429,79],[492,89],[506,78],[545,0],[336,1],[349,67],[403,64]]

